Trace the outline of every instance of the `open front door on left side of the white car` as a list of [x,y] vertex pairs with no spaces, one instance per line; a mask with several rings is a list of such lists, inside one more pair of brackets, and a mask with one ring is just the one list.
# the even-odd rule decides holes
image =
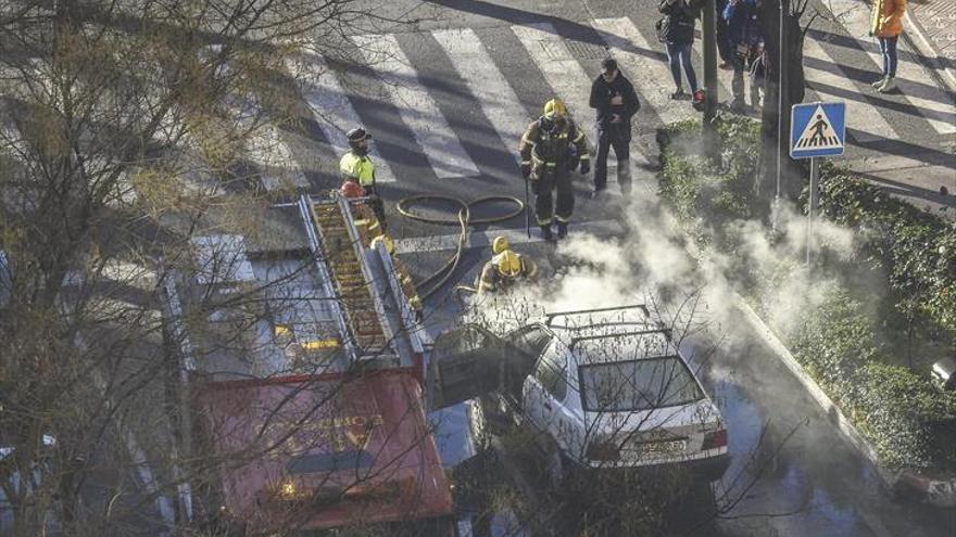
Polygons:
[[527,353],[477,324],[442,333],[428,363],[429,410],[506,389],[514,376],[528,374]]

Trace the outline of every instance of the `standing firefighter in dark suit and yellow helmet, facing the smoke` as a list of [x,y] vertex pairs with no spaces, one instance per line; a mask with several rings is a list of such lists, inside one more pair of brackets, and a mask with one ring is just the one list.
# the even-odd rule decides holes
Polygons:
[[[551,222],[557,220],[557,236],[567,235],[575,208],[570,170],[580,163],[581,174],[591,171],[591,154],[584,132],[568,116],[558,99],[544,105],[544,115],[528,126],[521,137],[521,176],[534,191],[534,217],[541,233],[552,240]],[[551,192],[557,190],[556,206]]]

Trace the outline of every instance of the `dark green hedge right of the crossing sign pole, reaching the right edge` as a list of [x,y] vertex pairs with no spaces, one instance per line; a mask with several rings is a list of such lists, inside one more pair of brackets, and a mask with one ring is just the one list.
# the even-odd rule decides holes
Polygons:
[[867,238],[901,304],[914,304],[926,321],[956,334],[956,232],[949,222],[839,168],[825,170],[820,209]]

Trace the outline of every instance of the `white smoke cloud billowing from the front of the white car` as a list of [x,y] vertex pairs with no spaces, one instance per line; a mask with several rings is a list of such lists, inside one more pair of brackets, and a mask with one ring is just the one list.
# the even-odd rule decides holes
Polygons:
[[552,277],[476,301],[469,320],[501,333],[544,311],[650,303],[676,325],[722,335],[739,324],[734,304],[743,295],[756,297],[757,309],[785,335],[826,299],[836,279],[804,264],[807,238],[815,258],[848,261],[858,248],[852,230],[821,219],[808,229],[806,216],[790,204],[778,207],[776,232],[760,221],[732,221],[712,230],[727,246],[704,251],[687,241],[656,201],[633,200],[624,210],[625,236],[571,233],[558,244]]

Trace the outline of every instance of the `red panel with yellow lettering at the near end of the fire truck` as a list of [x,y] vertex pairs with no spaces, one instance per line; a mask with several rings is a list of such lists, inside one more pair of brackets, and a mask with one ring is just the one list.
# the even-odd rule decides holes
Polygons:
[[200,429],[223,509],[252,530],[449,514],[418,382],[404,371],[210,383]]

